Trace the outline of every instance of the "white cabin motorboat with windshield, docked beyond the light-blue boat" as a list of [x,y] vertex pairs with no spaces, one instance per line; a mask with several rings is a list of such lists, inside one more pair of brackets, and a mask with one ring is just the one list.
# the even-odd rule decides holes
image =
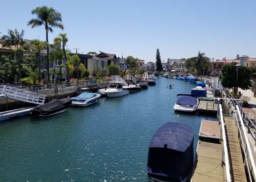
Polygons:
[[108,97],[119,97],[129,94],[129,91],[123,88],[123,82],[110,82],[109,86],[104,92]]

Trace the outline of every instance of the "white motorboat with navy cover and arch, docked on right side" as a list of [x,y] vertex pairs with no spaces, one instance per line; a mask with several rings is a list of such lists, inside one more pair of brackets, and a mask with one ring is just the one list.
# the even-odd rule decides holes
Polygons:
[[194,112],[197,110],[199,100],[194,95],[177,94],[177,101],[174,105],[176,111]]

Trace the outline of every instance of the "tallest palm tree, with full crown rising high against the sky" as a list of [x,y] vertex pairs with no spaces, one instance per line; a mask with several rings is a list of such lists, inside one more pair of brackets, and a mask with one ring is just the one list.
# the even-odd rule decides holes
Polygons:
[[[48,41],[48,32],[53,32],[52,27],[57,27],[60,29],[64,29],[64,25],[61,23],[62,22],[62,17],[61,13],[56,11],[54,8],[50,7],[48,8],[47,6],[38,6],[35,9],[31,11],[32,15],[37,15],[37,18],[32,18],[28,22],[28,26],[31,25],[32,29],[34,27],[39,27],[41,25],[45,26],[46,30],[46,41]],[[50,81],[49,77],[49,46],[47,46],[47,81]]]

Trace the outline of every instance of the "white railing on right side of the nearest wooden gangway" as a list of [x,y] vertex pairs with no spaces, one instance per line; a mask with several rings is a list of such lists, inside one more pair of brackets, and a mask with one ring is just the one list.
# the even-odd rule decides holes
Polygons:
[[[247,132],[246,132],[246,129],[245,129],[245,126],[244,126],[243,118],[241,116],[240,108],[238,107],[238,105],[236,105],[236,110],[237,110],[237,112],[236,112],[236,125],[237,125],[238,131],[239,131],[239,142],[241,142],[242,150],[243,150],[244,156],[245,156],[244,157],[244,166],[246,166],[250,182],[252,182],[252,181],[256,180],[256,178],[255,178],[255,175],[256,175],[255,162],[254,162],[251,146],[250,146],[250,143],[249,143],[249,139],[247,137]],[[240,120],[240,124],[241,124],[242,129],[240,129],[240,127],[239,127],[240,125],[239,125],[238,119]],[[245,144],[243,142],[242,136],[244,136]],[[249,166],[247,157],[249,157],[251,165],[252,165],[252,173],[254,174],[254,180],[252,179],[253,174],[250,171],[250,166]]]

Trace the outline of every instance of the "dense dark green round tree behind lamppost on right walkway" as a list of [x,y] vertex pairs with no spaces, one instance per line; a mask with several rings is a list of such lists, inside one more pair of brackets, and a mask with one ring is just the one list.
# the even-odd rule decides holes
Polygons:
[[232,62],[231,64],[224,64],[221,67],[221,73],[222,73],[222,78],[221,78],[221,84],[223,87],[226,88],[232,88],[235,90],[237,87],[247,90],[249,89],[252,84],[251,84],[251,72],[248,67],[245,66],[240,66],[238,69],[238,80],[237,80],[237,85],[236,85],[236,62]]

